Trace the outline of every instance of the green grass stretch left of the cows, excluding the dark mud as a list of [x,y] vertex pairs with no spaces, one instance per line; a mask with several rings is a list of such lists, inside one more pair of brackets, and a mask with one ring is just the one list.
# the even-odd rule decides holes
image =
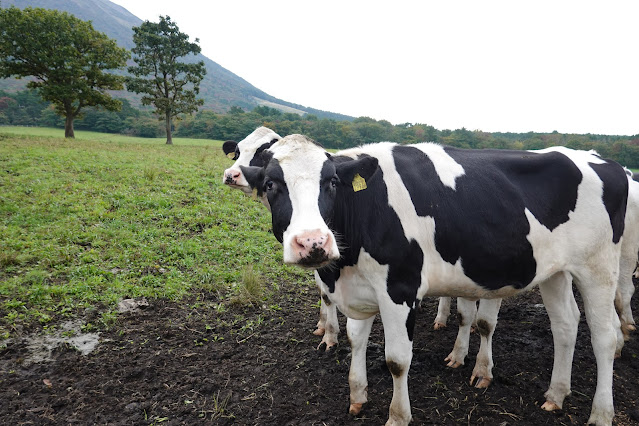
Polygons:
[[0,340],[87,309],[106,323],[123,297],[255,305],[311,279],[282,264],[266,209],[221,183],[220,141],[58,133],[0,127]]

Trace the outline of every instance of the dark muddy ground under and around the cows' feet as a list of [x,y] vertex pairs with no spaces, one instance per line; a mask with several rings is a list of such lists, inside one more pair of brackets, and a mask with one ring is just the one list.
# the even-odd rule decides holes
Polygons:
[[[213,295],[190,301],[150,300],[122,314],[88,355],[69,344],[50,361],[33,362],[27,341],[0,349],[0,423],[110,425],[379,425],[388,415],[392,380],[384,362],[381,324],[368,348],[369,403],[348,409],[350,349],[340,316],[341,345],[317,352],[314,288],[281,286],[269,307],[219,312]],[[445,366],[456,335],[432,330],[436,300],[418,317],[409,376],[413,424],[571,425],[588,420],[595,361],[583,318],[574,358],[572,395],[561,411],[539,407],[550,381],[552,337],[538,292],[502,305],[494,338],[493,384],[468,384],[479,337],[458,369]],[[633,301],[635,316],[637,297]],[[581,306],[581,303],[580,303]],[[582,309],[583,312],[583,309]],[[636,332],[635,334],[639,334]],[[615,424],[639,424],[639,335],[615,362]]]

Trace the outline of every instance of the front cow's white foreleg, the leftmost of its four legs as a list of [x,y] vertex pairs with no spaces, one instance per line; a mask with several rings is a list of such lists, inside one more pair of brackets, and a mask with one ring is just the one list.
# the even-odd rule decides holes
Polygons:
[[362,411],[362,405],[368,401],[368,379],[366,376],[366,347],[375,315],[365,320],[346,320],[346,334],[351,343],[351,368],[348,373],[348,385],[351,391],[350,407],[352,415]]

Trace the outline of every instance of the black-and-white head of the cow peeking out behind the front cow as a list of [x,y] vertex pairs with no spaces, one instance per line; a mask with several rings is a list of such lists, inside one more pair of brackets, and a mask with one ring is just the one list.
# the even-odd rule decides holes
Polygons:
[[280,135],[271,129],[267,127],[258,127],[255,131],[253,131],[253,133],[245,137],[239,143],[235,141],[224,142],[224,145],[222,145],[224,154],[229,157],[231,157],[232,154],[232,158],[235,160],[235,163],[228,169],[224,170],[222,182],[232,188],[241,189],[245,193],[250,194],[253,191],[253,188],[249,185],[242,174],[240,167],[261,167],[263,164],[261,157],[262,151],[280,139]]

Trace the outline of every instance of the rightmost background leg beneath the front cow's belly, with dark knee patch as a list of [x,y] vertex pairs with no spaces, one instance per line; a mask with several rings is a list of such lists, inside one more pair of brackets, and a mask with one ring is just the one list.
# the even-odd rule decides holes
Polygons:
[[470,376],[470,384],[475,379],[477,388],[487,388],[493,380],[493,333],[497,326],[497,317],[501,299],[481,299],[477,311],[477,330],[481,338],[479,353],[475,361],[473,374]]

